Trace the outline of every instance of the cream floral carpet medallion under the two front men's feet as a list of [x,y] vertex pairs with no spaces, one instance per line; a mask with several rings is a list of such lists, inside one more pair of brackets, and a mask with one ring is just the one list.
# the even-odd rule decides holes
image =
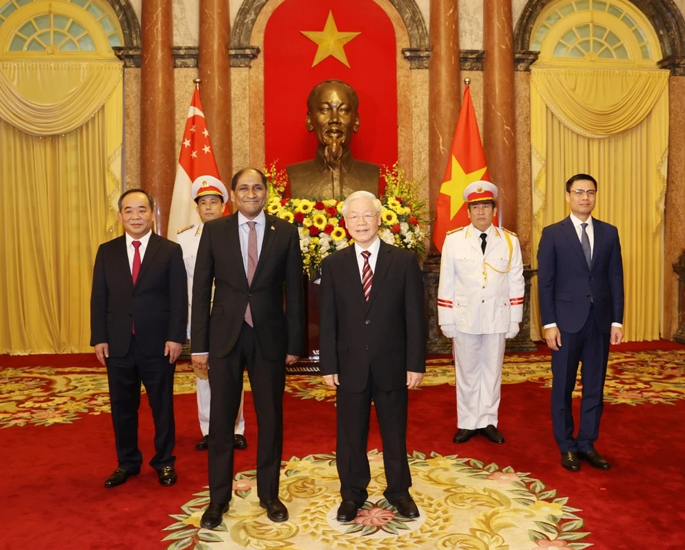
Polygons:
[[582,512],[556,490],[510,467],[458,455],[410,457],[411,494],[420,516],[406,519],[382,497],[382,453],[371,451],[369,500],[354,521],[340,523],[340,488],[334,455],[292,457],[284,462],[279,497],[290,521],[272,523],[256,494],[256,471],[236,475],[234,498],[219,529],[199,529],[209,491],[194,495],[175,523],[167,550],[328,548],[508,550],[590,547]]

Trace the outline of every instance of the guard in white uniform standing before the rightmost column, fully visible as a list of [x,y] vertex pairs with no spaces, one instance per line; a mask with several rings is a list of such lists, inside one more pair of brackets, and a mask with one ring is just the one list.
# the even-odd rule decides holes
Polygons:
[[457,386],[453,442],[476,433],[503,443],[497,429],[505,338],[523,318],[523,262],[516,235],[493,226],[497,187],[464,189],[471,224],[447,233],[440,261],[438,323],[452,339]]

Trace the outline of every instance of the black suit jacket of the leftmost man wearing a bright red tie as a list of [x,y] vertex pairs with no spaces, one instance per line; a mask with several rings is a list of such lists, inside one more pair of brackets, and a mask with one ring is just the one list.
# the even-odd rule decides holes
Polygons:
[[186,342],[188,280],[177,243],[150,235],[136,285],[125,235],[102,243],[95,256],[90,294],[90,345],[108,343],[123,357],[136,342],[145,355],[164,356],[166,342]]

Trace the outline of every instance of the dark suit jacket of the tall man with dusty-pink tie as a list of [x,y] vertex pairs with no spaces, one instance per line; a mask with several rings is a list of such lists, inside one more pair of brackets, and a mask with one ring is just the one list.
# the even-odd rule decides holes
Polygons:
[[[212,282],[215,289],[210,318]],[[304,303],[299,235],[294,225],[268,214],[257,270],[249,286],[240,251],[238,215],[205,224],[192,281],[192,352],[228,355],[240,334],[248,302],[264,357],[276,361],[285,360],[286,354],[302,355]]]

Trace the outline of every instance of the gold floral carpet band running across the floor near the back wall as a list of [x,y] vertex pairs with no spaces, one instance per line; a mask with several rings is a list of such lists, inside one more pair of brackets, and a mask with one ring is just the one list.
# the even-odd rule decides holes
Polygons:
[[[508,355],[502,382],[532,382],[551,387],[549,355]],[[427,362],[428,385],[454,385],[451,359]],[[249,380],[245,374],[245,390]],[[421,391],[421,388],[415,391]],[[176,370],[176,394],[195,392],[195,376],[188,363]],[[301,399],[334,402],[335,391],[312,375],[286,378],[286,392]],[[580,372],[575,395],[580,396]],[[606,403],[672,404],[685,399],[685,350],[614,352],[604,387]],[[109,412],[107,376],[103,368],[0,368],[0,428],[69,424],[84,414]]]

